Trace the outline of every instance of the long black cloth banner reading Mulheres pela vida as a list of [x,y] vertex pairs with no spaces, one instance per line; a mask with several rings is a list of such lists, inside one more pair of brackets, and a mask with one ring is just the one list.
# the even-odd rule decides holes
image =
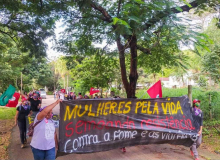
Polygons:
[[191,146],[197,129],[187,96],[63,101],[57,156],[141,144]]

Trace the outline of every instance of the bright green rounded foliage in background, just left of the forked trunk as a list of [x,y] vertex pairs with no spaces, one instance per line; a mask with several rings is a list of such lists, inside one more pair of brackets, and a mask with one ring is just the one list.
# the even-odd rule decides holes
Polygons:
[[[109,83],[120,77],[114,52],[100,49],[91,49],[90,52],[92,56],[84,57],[71,68],[76,92],[85,93],[90,87],[108,88]],[[75,58],[73,57],[72,61],[78,62]]]

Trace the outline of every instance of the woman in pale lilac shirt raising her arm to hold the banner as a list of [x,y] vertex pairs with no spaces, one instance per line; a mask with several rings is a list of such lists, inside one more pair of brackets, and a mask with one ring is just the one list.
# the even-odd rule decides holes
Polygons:
[[58,140],[52,120],[52,109],[59,102],[62,102],[62,99],[58,99],[51,105],[41,108],[35,117],[34,124],[37,124],[30,144],[35,160],[55,160],[55,146],[58,148]]

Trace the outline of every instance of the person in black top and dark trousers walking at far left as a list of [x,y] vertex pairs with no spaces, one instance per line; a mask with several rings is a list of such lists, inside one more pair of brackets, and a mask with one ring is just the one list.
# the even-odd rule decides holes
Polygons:
[[25,147],[27,143],[26,138],[26,116],[30,115],[31,107],[27,100],[22,100],[22,103],[17,107],[17,111],[15,114],[15,126],[19,127],[20,131],[20,139],[21,139],[21,148]]

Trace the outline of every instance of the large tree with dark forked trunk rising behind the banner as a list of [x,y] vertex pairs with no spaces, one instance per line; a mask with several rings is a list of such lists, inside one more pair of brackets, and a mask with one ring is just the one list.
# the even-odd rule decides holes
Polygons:
[[[175,39],[172,41],[175,49],[181,40],[198,43],[197,38],[201,38],[202,35],[184,26],[181,23],[182,19],[177,18],[176,14],[188,12],[198,6],[205,8],[206,2],[206,0],[195,0],[190,3],[186,0],[69,1],[66,2],[69,9],[63,14],[67,29],[60,41],[63,44],[61,48],[72,54],[77,51],[86,53],[92,42],[101,43],[103,40],[106,40],[107,44],[116,42],[122,81],[127,97],[132,98],[135,97],[138,79],[138,50],[147,55],[155,54],[157,51],[156,59],[166,60],[167,54],[163,55],[155,48],[165,43],[169,46],[169,38]],[[145,45],[140,45],[141,41],[144,41]],[[129,75],[125,65],[126,53],[130,54]],[[171,51],[169,55],[172,55]]]

